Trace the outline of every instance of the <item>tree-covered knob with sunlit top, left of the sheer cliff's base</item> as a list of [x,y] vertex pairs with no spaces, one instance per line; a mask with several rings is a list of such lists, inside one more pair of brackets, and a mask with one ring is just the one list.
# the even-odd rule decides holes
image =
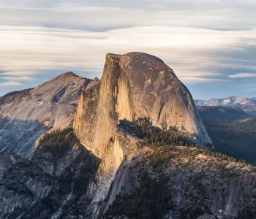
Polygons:
[[53,158],[60,158],[62,155],[71,150],[78,143],[78,139],[73,133],[72,128],[64,128],[45,134],[39,140],[39,148],[43,147],[53,153]]

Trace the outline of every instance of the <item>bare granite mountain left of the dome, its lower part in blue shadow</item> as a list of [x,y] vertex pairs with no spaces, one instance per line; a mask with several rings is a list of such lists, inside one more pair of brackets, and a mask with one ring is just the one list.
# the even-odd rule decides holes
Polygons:
[[0,98],[0,151],[23,157],[51,128],[70,125],[80,93],[91,80],[72,72],[59,75],[37,88],[8,93]]

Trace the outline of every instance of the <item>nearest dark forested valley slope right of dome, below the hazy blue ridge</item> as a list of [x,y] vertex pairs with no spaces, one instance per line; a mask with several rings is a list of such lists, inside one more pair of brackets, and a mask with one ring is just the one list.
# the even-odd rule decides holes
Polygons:
[[241,121],[203,117],[203,123],[219,153],[256,163],[256,118]]

